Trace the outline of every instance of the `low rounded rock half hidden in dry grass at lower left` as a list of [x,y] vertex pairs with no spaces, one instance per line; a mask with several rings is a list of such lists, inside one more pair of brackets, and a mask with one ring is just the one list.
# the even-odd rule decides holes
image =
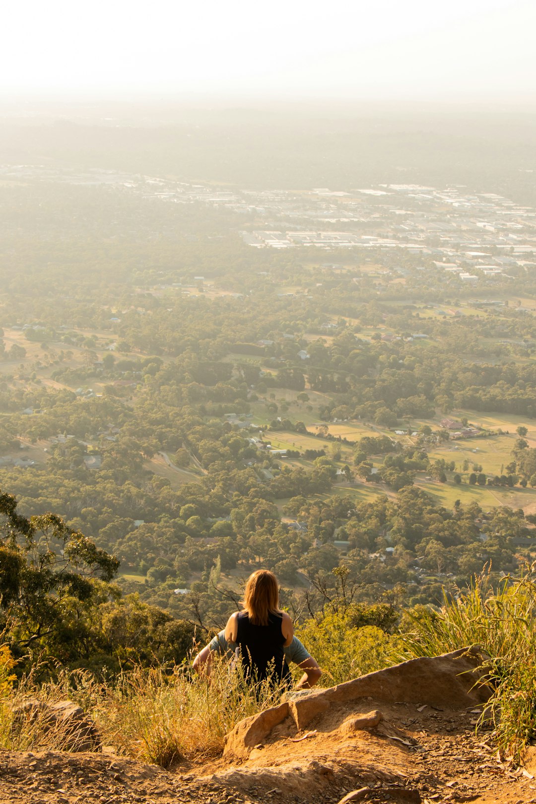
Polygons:
[[96,751],[100,748],[100,736],[95,724],[74,701],[45,704],[38,699],[28,698],[11,711],[14,728],[31,724],[47,735],[58,749]]

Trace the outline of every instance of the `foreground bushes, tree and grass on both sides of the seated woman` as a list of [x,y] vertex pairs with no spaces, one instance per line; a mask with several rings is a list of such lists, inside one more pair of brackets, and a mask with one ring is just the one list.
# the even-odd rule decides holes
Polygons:
[[[28,697],[75,699],[91,713],[104,742],[162,765],[180,757],[217,755],[239,720],[280,699],[282,689],[250,687],[225,659],[215,658],[210,680],[195,675],[190,662],[200,634],[189,634],[188,623],[166,618],[136,599],[122,599],[109,585],[117,561],[58,517],[26,519],[18,515],[13,497],[3,494],[0,502],[5,519],[0,548],[4,748],[61,748],[67,739],[61,728],[51,730],[46,719],[20,720],[17,704]],[[63,544],[61,551],[58,544]],[[519,580],[505,578],[498,588],[487,572],[466,593],[444,592],[438,610],[356,603],[348,568],[336,568],[333,589],[323,588],[315,617],[298,618],[297,634],[320,662],[325,686],[397,659],[478,646],[480,683],[493,689],[480,725],[489,728],[491,722],[500,749],[518,758],[534,739],[533,572],[530,568]],[[117,621],[122,632],[114,648],[109,634],[121,630]],[[175,660],[165,652],[166,639]],[[82,643],[87,646],[84,661],[69,662],[73,646]]]

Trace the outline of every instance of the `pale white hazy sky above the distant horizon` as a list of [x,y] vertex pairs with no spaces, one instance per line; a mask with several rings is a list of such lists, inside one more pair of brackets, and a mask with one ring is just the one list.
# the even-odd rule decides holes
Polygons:
[[536,100],[536,0],[18,0],[0,92]]

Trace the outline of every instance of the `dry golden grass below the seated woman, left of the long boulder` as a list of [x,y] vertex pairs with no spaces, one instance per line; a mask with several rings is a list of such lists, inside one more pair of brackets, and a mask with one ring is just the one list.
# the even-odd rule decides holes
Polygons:
[[173,671],[138,667],[110,683],[84,671],[66,671],[39,686],[27,678],[0,703],[0,748],[65,748],[67,733],[60,726],[50,728],[46,714],[16,718],[13,710],[28,697],[43,703],[68,698],[92,717],[104,745],[167,767],[185,758],[219,755],[225,734],[244,717],[279,703],[282,692],[268,683],[252,687],[241,667],[217,657],[210,680],[192,675],[186,664]]

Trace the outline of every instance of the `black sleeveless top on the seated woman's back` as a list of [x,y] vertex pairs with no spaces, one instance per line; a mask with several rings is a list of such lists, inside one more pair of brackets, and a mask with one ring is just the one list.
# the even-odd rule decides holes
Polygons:
[[288,664],[284,658],[285,638],[281,634],[281,614],[268,614],[268,626],[254,626],[246,612],[237,617],[236,644],[243,667],[252,683],[271,679],[274,683],[289,682]]

